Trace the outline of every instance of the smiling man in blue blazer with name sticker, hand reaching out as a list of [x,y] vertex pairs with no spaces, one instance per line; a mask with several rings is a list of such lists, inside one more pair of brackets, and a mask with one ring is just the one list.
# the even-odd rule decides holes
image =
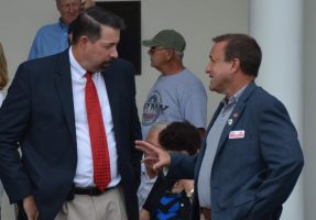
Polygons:
[[168,154],[137,141],[167,178],[194,178],[192,219],[275,220],[303,168],[296,130],[285,107],[254,84],[261,63],[255,40],[214,38],[206,73],[225,95],[196,156]]

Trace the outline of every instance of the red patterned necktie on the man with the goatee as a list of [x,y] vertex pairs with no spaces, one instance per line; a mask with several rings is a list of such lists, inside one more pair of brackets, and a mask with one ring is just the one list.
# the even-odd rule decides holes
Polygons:
[[102,191],[111,180],[108,142],[91,73],[87,72],[86,78],[86,108],[94,158],[94,180],[98,189]]

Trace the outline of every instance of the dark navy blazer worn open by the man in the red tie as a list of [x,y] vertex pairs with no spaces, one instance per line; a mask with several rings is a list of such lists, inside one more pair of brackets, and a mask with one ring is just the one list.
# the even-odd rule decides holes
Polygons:
[[[102,74],[128,217],[139,218],[141,140],[134,69],[122,59]],[[0,109],[0,177],[11,202],[34,195],[40,218],[54,219],[70,190],[77,144],[68,50],[21,64]],[[18,148],[21,148],[20,158]]]

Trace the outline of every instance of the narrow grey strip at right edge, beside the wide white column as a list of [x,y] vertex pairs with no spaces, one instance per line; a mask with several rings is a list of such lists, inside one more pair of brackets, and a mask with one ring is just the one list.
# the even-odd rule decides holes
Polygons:
[[316,1],[305,0],[304,22],[304,212],[305,220],[316,219]]

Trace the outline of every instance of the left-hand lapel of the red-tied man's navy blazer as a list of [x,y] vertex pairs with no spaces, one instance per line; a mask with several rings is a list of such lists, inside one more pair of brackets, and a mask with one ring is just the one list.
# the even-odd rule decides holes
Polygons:
[[74,99],[68,50],[58,56],[55,69],[55,86],[72,139],[76,143]]

